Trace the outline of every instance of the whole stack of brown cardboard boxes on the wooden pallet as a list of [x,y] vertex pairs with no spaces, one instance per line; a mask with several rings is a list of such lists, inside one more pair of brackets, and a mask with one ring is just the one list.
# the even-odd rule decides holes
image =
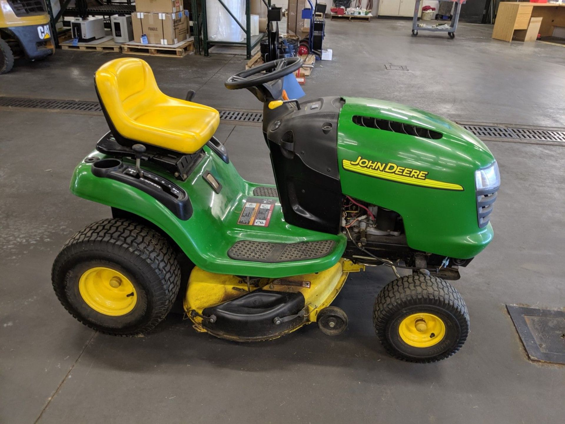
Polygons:
[[142,44],[173,45],[190,35],[182,0],[136,0],[132,24],[133,41]]

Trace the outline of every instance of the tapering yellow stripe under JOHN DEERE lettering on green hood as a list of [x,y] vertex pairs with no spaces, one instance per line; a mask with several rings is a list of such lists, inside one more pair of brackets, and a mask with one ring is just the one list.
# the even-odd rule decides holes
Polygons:
[[[436,188],[440,190],[463,191],[463,187],[459,184],[444,183],[444,181],[431,180],[425,178],[425,176],[424,178],[421,178],[421,176],[427,174],[427,172],[424,171],[418,171],[417,175],[419,175],[420,178],[415,178],[414,176],[402,175],[402,172],[397,172],[399,169],[405,170],[405,168],[398,167],[394,163],[382,164],[376,162],[378,165],[382,166],[375,166],[373,168],[359,165],[359,159],[360,158],[356,159],[355,161],[348,161],[347,159],[343,159],[342,165],[347,171],[357,172],[358,174],[368,175],[383,180],[394,181],[396,183],[418,185],[420,187]],[[375,162],[369,162],[370,165],[372,165],[373,163]],[[412,174],[412,172],[406,172],[405,174],[410,175]]]

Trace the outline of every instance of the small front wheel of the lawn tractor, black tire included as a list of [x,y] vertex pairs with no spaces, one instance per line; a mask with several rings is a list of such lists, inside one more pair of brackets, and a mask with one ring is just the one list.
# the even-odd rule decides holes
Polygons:
[[409,362],[450,357],[469,332],[469,314],[459,292],[445,280],[424,274],[385,285],[375,301],[373,323],[386,351]]

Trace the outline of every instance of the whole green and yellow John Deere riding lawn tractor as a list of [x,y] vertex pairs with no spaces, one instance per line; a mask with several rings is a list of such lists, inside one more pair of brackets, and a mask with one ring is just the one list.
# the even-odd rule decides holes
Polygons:
[[271,340],[314,322],[336,336],[347,315],[333,300],[351,272],[379,265],[396,276],[372,311],[389,353],[432,362],[462,347],[469,315],[446,280],[493,238],[492,153],[413,107],[299,102],[290,87],[301,66],[277,59],[225,81],[263,103],[258,136],[276,185],[241,178],[214,137],[218,111],[190,101],[194,92],[166,96],[141,59],[99,68],[110,132],[77,165],[71,192],[112,217],[77,232],[55,259],[53,287],[69,313],[133,336],[179,296],[194,329],[219,338]]

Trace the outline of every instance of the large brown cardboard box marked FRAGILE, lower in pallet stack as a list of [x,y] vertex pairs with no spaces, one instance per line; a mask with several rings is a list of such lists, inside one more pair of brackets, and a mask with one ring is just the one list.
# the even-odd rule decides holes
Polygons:
[[174,14],[135,12],[132,14],[133,41],[144,42],[144,35],[146,44],[172,45],[184,41],[189,35],[186,15],[184,10]]

